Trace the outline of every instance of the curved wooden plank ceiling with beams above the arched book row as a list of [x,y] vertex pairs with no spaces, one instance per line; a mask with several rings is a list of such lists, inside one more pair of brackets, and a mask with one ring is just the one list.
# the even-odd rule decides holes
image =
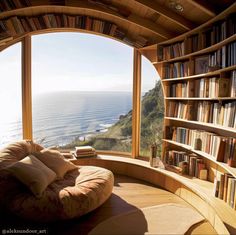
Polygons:
[[125,35],[122,38],[125,43],[143,47],[183,34],[233,3],[234,0],[2,0],[0,47],[15,43],[29,33],[14,32],[17,27],[14,22],[13,29],[9,29],[11,26],[6,21],[15,16],[51,13],[92,16],[115,24]]

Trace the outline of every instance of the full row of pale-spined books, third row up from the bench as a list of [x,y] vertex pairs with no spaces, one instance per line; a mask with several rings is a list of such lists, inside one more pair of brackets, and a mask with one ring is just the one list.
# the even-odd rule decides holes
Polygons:
[[236,101],[169,102],[167,116],[236,128]]

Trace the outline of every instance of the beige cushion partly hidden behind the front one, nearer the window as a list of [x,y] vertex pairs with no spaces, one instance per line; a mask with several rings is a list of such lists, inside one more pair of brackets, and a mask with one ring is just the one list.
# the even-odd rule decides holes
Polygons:
[[63,179],[68,171],[77,169],[76,165],[64,159],[63,155],[56,150],[43,149],[40,152],[35,152],[34,155],[53,170],[58,179]]

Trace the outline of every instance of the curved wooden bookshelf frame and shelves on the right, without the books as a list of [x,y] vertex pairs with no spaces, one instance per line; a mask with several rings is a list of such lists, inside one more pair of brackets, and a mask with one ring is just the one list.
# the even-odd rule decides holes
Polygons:
[[[215,71],[210,71],[210,72],[204,72],[204,73],[199,73],[199,74],[194,74],[194,66],[195,66],[195,58],[199,56],[205,56],[205,55],[210,55],[213,54],[214,52],[220,50],[222,47],[228,47],[228,45],[235,43],[236,40],[236,34],[233,34],[231,36],[228,36],[221,41],[218,41],[218,43],[212,43],[212,45],[198,49],[195,52],[189,52],[189,50],[185,48],[185,46],[188,46],[186,44],[186,41],[188,37],[194,36],[194,35],[199,35],[200,33],[212,29],[213,25],[219,21],[224,21],[228,15],[231,13],[236,12],[236,3],[231,5],[228,9],[226,9],[224,12],[221,14],[217,15],[210,21],[204,23],[203,25],[187,32],[184,33],[176,38],[161,42],[156,45],[148,46],[145,48],[139,49],[142,55],[144,55],[147,59],[149,59],[154,67],[156,68],[157,72],[160,74],[161,77],[161,82],[163,86],[164,91],[164,105],[165,105],[165,115],[168,113],[167,112],[167,107],[169,105],[169,102],[179,102],[179,101],[208,101],[208,102],[235,102],[236,97],[213,97],[213,98],[204,98],[204,97],[172,97],[171,96],[171,89],[172,84],[178,84],[178,83],[183,83],[189,84],[189,81],[193,80],[198,80],[201,78],[211,78],[211,77],[217,77],[217,78],[224,78],[225,76],[231,76],[232,71],[236,70],[236,64],[230,65],[227,64],[228,67],[225,68],[215,68]],[[159,51],[159,48],[163,49],[163,47],[169,47],[167,50],[174,50],[174,47],[170,47],[171,45],[175,45],[177,43],[182,43],[181,46],[183,47],[178,47],[177,52],[175,51],[176,54],[178,54],[178,50],[183,49],[184,53],[182,56],[176,56],[174,58],[170,58],[171,56],[169,54],[164,55],[164,52],[162,50]],[[204,45],[204,44],[203,44]],[[180,49],[179,49],[180,48]],[[183,53],[182,51],[182,53]],[[191,51],[191,50],[190,50]],[[162,53],[159,55],[159,53]],[[170,53],[168,51],[167,53]],[[173,53],[173,52],[172,52]],[[236,52],[234,52],[236,53]],[[174,54],[174,53],[173,53]],[[164,58],[163,60],[161,60]],[[168,58],[168,59],[165,59]],[[188,76],[179,76],[175,78],[164,78],[165,76],[165,69],[169,69],[170,64],[174,64],[176,62],[183,62],[183,61],[189,61],[190,67],[189,67],[189,75]],[[180,64],[180,63],[179,63]],[[178,64],[178,65],[179,65]],[[165,67],[167,65],[167,67]],[[230,66],[229,66],[230,65]],[[168,73],[169,74],[169,71]],[[171,74],[171,73],[170,73]],[[174,73],[173,73],[174,74]],[[171,75],[173,76],[173,75]],[[228,77],[229,78],[229,77]],[[208,80],[208,79],[207,79]],[[194,83],[193,83],[194,84]],[[195,88],[196,89],[196,88]],[[170,96],[166,96],[166,94],[170,93]],[[181,93],[182,94],[182,93]],[[173,95],[173,94],[172,94]],[[223,162],[218,162],[216,161],[216,158],[214,156],[211,156],[205,152],[194,150],[191,146],[185,145],[178,143],[176,141],[172,141],[171,137],[169,136],[169,133],[167,133],[166,129],[167,127],[172,127],[172,126],[182,126],[183,128],[189,128],[189,129],[200,129],[200,130],[205,130],[208,132],[213,132],[216,133],[219,136],[226,136],[226,137],[233,137],[236,138],[236,130],[235,128],[230,128],[230,127],[225,127],[221,125],[214,125],[212,123],[205,123],[205,122],[198,122],[198,121],[190,121],[186,119],[180,119],[180,118],[174,118],[174,117],[168,117],[165,116],[164,118],[164,136],[163,136],[163,150],[167,149],[168,150],[181,150],[181,151],[186,151],[187,153],[194,153],[197,156],[199,156],[202,159],[206,160],[206,166],[209,167],[208,173],[210,171],[209,180],[214,181],[214,178],[216,177],[217,172],[220,172],[222,174],[224,173],[230,173],[234,178],[236,178],[236,168],[230,167],[228,164],[223,163]],[[164,152],[164,151],[163,151]],[[165,159],[165,154],[163,153],[162,159]],[[213,170],[214,169],[214,170]],[[170,172],[168,173],[175,177],[176,180],[182,180],[183,176],[180,176],[176,173]],[[187,181],[188,186],[191,185],[193,186],[194,189],[196,190],[195,192],[201,194],[201,195],[207,195],[208,199],[205,198],[208,203],[211,205],[214,205],[215,209],[217,210],[228,210],[227,213],[224,213],[223,217],[230,219],[229,217],[234,213],[234,216],[236,215],[236,212],[234,209],[232,209],[227,203],[225,203],[223,200],[220,200],[219,198],[216,198],[213,196],[213,183],[211,182],[205,182],[201,180],[195,180],[194,178],[186,178],[183,179],[184,182]],[[208,190],[206,190],[204,187],[202,187],[202,183],[207,185]],[[209,198],[210,202],[209,202]],[[195,204],[197,206],[197,204]],[[220,209],[221,208],[221,209]],[[229,231],[234,234],[230,230],[230,226],[228,227]],[[234,225],[234,229],[236,229]]]

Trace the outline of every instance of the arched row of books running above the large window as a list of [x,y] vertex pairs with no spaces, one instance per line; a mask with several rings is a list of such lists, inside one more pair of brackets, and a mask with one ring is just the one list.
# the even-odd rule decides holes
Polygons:
[[10,17],[0,22],[0,39],[10,36],[22,35],[36,30],[48,28],[78,28],[106,34],[125,43],[141,48],[148,40],[138,35],[135,39],[130,39],[126,33],[117,27],[116,24],[93,18],[86,15],[66,15],[66,14],[44,14],[33,17]]

